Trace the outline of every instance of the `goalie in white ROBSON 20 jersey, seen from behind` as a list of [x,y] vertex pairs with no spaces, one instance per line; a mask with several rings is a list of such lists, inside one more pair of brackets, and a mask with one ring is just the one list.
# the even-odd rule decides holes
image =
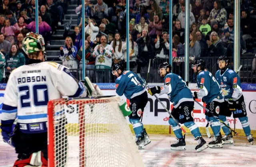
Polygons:
[[10,74],[2,106],[2,136],[18,153],[14,167],[47,167],[48,100],[85,97],[86,87],[68,68],[44,62],[41,35],[29,33],[22,43],[30,59]]

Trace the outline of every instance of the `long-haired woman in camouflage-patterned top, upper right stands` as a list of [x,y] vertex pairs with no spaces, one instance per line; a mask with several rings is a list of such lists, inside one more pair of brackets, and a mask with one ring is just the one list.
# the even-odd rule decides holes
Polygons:
[[220,0],[214,1],[214,8],[210,12],[208,22],[211,23],[213,20],[216,20],[218,22],[220,28],[223,28],[224,24],[227,21],[227,11],[225,10],[225,8],[222,8]]

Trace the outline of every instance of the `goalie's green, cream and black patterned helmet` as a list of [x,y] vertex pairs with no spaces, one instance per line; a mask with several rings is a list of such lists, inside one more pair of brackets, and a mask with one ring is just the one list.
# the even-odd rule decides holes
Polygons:
[[22,41],[22,49],[27,55],[35,51],[44,51],[44,45],[44,37],[34,32],[27,33]]

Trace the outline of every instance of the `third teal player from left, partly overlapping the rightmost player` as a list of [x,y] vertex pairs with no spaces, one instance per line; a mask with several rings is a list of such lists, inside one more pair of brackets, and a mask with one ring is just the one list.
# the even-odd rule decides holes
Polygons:
[[214,133],[214,139],[209,142],[210,148],[222,147],[222,139],[220,136],[220,121],[216,118],[223,105],[224,98],[220,85],[216,82],[212,73],[205,69],[204,60],[196,60],[193,63],[194,73],[197,73],[196,83],[199,92],[193,93],[194,100],[203,98],[206,108],[210,112],[205,112],[205,118],[209,122]]

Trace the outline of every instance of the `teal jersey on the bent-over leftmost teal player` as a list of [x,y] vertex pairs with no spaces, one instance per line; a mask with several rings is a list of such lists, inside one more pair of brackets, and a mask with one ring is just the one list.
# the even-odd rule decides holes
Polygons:
[[116,79],[116,93],[118,96],[124,96],[127,99],[134,98],[144,93],[146,88],[143,86],[143,82],[132,71],[123,71],[123,73]]

